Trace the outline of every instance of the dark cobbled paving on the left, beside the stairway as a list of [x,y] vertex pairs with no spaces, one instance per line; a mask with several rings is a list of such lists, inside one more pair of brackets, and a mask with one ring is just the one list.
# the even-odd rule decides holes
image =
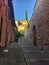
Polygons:
[[8,52],[0,52],[0,65],[26,65],[19,46],[10,44]]

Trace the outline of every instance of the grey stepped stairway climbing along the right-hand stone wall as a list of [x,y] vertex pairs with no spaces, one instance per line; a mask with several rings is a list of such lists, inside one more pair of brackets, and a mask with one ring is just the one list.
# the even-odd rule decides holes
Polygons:
[[[20,39],[22,42],[22,39]],[[49,65],[49,54],[41,48],[33,46],[29,40],[23,38],[23,42],[19,41],[19,46],[23,56],[27,62],[26,65]],[[21,44],[20,44],[21,43]]]

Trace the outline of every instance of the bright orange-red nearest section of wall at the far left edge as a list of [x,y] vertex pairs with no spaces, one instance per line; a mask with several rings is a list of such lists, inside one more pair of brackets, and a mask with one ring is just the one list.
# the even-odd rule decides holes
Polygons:
[[1,30],[1,40],[0,40],[0,45],[4,46],[5,45],[5,40],[6,40],[6,7],[4,6],[4,1],[0,0],[0,30]]

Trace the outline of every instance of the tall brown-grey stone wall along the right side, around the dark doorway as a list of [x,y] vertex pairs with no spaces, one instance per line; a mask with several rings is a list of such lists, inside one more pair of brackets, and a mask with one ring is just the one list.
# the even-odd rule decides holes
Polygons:
[[33,27],[36,28],[36,41],[38,46],[49,47],[49,0],[37,0],[34,13],[30,20],[28,38],[33,42]]

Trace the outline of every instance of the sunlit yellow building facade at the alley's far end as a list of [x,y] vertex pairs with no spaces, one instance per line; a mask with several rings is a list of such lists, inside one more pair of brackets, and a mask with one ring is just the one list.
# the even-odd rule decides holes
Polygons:
[[28,27],[28,21],[27,20],[16,20],[15,21],[16,27],[18,31],[26,31]]

